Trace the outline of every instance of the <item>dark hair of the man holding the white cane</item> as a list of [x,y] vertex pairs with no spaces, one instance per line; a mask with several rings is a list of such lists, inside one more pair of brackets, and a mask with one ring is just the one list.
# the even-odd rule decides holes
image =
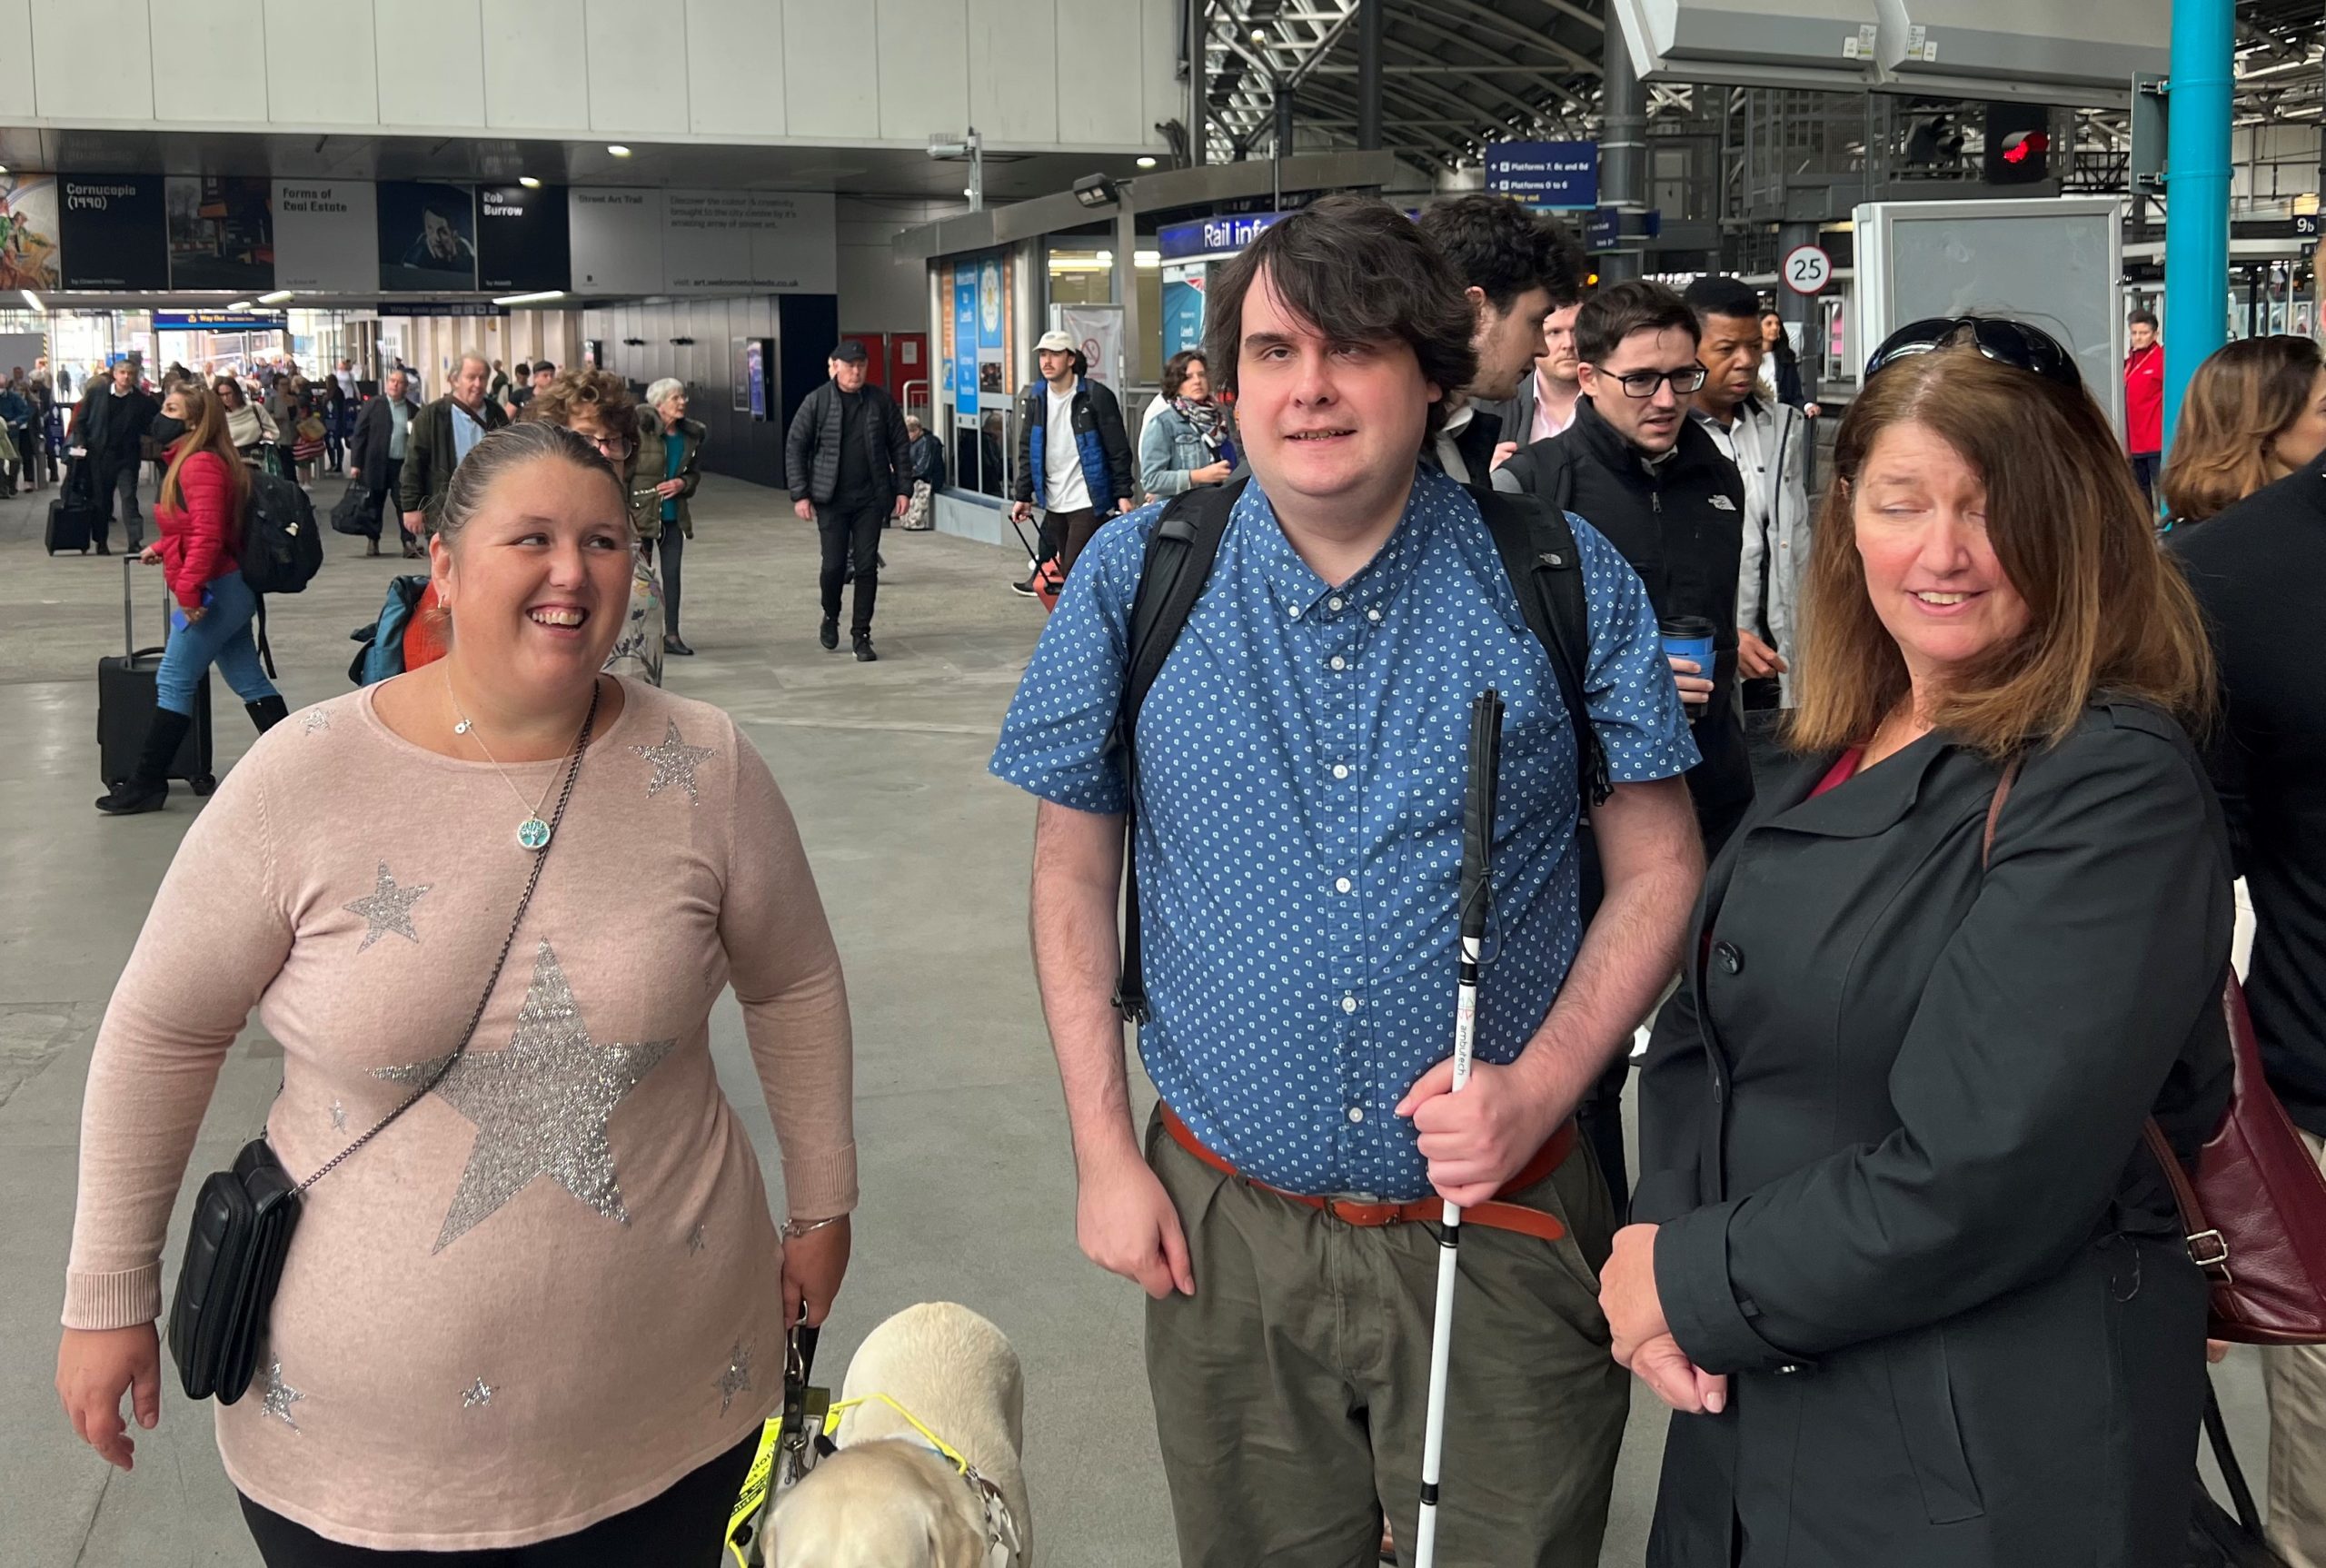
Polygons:
[[[1323,195],[1270,226],[1212,279],[1203,309],[1203,363],[1212,386],[1235,391],[1244,344],[1244,295],[1261,270],[1277,300],[1337,342],[1403,342],[1421,377],[1442,389],[1477,377],[1470,328],[1477,312],[1444,254],[1403,212],[1372,195]],[[1424,442],[1447,419],[1430,402]]]

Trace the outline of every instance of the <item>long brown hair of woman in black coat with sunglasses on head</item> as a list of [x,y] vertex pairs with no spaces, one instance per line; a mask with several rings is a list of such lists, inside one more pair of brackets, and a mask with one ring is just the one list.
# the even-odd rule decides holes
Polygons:
[[2026,628],[1965,661],[1924,714],[1986,756],[2065,740],[2100,693],[2154,703],[2191,728],[2212,712],[2212,651],[2196,598],[2156,547],[2107,416],[2059,386],[1945,347],[1875,375],[1842,419],[1833,486],[1803,586],[1803,751],[1863,744],[1907,700],[1905,656],[1875,614],[1851,496],[1884,430],[1919,423],[1986,486],[1986,537]]

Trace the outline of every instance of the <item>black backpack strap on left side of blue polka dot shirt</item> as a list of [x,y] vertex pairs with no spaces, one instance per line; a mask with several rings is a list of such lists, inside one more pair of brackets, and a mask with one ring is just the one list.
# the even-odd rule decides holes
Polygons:
[[1107,747],[1123,758],[1123,963],[1114,982],[1114,1010],[1126,1024],[1144,1024],[1147,965],[1140,952],[1140,707],[1163,672],[1172,644],[1212,579],[1212,561],[1228,535],[1228,519],[1247,479],[1179,491],[1147,535],[1140,589],[1130,600],[1130,642],[1123,654],[1123,700]]

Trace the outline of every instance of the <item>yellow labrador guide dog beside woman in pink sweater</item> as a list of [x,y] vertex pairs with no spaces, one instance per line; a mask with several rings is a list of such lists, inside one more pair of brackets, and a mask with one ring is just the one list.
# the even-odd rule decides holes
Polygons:
[[[840,1424],[840,1452],[775,1505],[772,1568],[1033,1563],[1026,1375],[1000,1328],[949,1300],[905,1307],[858,1347],[840,1398],[863,1403]],[[989,1487],[933,1449],[905,1412]]]

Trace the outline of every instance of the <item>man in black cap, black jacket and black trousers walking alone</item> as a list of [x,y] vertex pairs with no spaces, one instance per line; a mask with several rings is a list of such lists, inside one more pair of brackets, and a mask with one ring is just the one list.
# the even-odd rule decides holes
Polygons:
[[879,598],[879,530],[912,500],[912,444],[886,391],[865,382],[865,347],[842,342],[823,363],[833,379],[800,398],[784,435],[791,509],[823,540],[823,623],[816,640],[840,647],[840,584],[856,563],[849,644],[872,663],[872,605]]

